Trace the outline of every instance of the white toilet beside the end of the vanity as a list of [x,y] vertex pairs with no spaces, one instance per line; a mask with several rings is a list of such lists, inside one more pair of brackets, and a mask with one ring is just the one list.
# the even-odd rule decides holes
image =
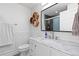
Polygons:
[[23,44],[23,45],[19,46],[18,51],[21,56],[27,55],[29,52],[29,44]]

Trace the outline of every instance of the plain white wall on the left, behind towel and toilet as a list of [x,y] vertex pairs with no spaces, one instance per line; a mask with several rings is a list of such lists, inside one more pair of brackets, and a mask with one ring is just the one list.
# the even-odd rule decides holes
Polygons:
[[12,39],[13,44],[11,46],[0,47],[0,54],[15,50],[19,45],[27,43],[30,36],[30,16],[31,10],[20,4],[0,4],[0,21],[11,24],[14,28],[14,39]]

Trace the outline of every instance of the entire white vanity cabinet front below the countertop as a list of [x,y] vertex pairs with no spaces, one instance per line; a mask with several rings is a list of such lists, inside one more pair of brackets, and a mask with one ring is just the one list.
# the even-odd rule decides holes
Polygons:
[[68,54],[43,44],[43,42],[30,39],[31,56],[69,56]]

